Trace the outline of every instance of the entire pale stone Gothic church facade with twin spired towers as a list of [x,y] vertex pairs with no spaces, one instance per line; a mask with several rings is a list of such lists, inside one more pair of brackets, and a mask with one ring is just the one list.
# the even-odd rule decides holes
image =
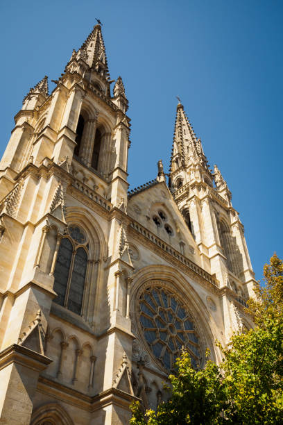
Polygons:
[[28,92],[0,163],[0,423],[127,424],[250,327],[254,274],[218,167],[179,102],[169,183],[128,192],[130,119],[96,25]]

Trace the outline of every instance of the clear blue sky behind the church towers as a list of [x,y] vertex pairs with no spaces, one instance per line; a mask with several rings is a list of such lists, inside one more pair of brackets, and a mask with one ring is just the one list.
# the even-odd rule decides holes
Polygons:
[[283,1],[2,1],[1,154],[28,89],[60,76],[96,17],[130,102],[130,188],[155,178],[160,158],[168,169],[179,95],[261,278],[273,252],[283,256]]

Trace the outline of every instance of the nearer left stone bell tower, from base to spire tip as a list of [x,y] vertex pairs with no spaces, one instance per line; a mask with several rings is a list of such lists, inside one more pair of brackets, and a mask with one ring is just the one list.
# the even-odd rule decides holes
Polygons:
[[76,424],[130,415],[130,119],[112,82],[96,25],[51,94],[45,76],[15,115],[0,163],[1,423],[62,405]]

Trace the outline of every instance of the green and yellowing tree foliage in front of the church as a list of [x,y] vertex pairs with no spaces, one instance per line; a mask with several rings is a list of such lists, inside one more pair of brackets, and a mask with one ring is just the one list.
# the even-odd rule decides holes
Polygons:
[[207,360],[196,371],[184,351],[169,376],[169,401],[146,415],[132,404],[130,424],[283,424],[283,263],[276,255],[264,276],[248,302],[255,328],[221,347],[219,366]]

